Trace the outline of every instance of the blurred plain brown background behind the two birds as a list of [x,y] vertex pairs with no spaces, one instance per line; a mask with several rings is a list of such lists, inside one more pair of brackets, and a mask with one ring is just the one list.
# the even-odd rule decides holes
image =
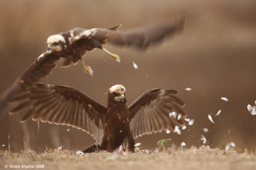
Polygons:
[[[51,34],[74,27],[130,29],[186,16],[181,34],[165,38],[146,52],[134,48],[105,47],[120,55],[118,63],[102,50],[86,53],[94,76],[85,74],[81,62],[67,69],[54,69],[42,83],[68,85],[82,90],[106,105],[109,87],[121,83],[131,104],[146,90],[177,89],[185,101],[184,111],[195,123],[181,131],[136,139],[143,149],[154,149],[160,139],[172,138],[172,145],[200,146],[201,135],[212,148],[236,143],[236,150],[255,151],[256,116],[247,105],[256,100],[256,2],[245,1],[0,1],[0,92],[3,92],[47,48]],[[132,61],[138,65],[134,69]],[[187,91],[185,88],[191,88]],[[227,97],[229,101],[221,100]],[[214,115],[221,110],[219,116]],[[212,115],[212,124],[207,115]],[[36,148],[37,123],[21,124],[22,113],[6,113],[0,122],[0,149],[15,152]],[[209,129],[204,132],[202,129]],[[93,138],[81,130],[40,122],[38,147],[83,150]],[[25,143],[25,145],[24,145]]]

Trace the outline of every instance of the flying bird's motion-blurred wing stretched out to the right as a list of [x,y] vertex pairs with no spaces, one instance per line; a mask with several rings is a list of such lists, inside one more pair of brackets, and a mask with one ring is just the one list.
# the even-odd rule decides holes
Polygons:
[[120,25],[110,29],[88,29],[77,34],[75,39],[97,39],[101,44],[109,42],[120,46],[147,48],[150,43],[156,43],[164,36],[182,31],[184,22],[182,18],[168,24],[148,25],[127,31],[117,31]]

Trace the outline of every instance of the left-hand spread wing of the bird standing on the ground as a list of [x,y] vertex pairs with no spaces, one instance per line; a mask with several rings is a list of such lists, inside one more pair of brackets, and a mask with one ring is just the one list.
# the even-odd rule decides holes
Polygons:
[[21,122],[32,118],[50,124],[71,125],[88,132],[96,143],[101,143],[107,110],[83,92],[71,87],[36,84],[12,101],[22,99],[25,101],[10,111],[10,114],[17,113],[29,106]]

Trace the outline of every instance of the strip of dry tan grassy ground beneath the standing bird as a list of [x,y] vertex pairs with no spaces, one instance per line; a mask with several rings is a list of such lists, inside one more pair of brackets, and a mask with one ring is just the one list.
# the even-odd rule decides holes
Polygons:
[[0,169],[4,169],[5,165],[8,165],[6,169],[11,169],[10,165],[20,168],[22,165],[42,165],[42,169],[256,169],[256,154],[236,153],[234,150],[225,151],[208,146],[189,149],[168,148],[165,152],[158,153],[102,152],[88,155],[76,155],[68,150],[39,154],[32,151],[1,151]]

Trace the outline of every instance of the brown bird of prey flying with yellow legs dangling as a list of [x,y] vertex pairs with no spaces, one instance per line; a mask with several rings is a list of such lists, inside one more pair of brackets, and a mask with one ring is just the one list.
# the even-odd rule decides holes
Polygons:
[[56,67],[56,61],[64,58],[63,67],[83,63],[84,70],[92,74],[90,66],[84,64],[82,58],[87,51],[99,48],[109,53],[114,59],[120,61],[120,57],[106,50],[102,45],[109,42],[120,46],[134,46],[146,49],[150,43],[156,43],[166,35],[173,35],[182,31],[184,19],[175,20],[168,24],[148,25],[127,31],[118,31],[118,27],[109,29],[74,28],[67,32],[55,34],[47,38],[47,51],[42,53],[19,78],[0,97],[0,112],[3,112],[6,102],[17,94],[38,83],[41,78],[51,73]]

